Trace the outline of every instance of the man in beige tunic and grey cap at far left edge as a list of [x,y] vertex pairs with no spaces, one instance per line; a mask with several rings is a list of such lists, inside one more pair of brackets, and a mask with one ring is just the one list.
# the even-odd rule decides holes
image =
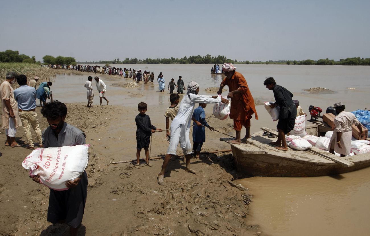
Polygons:
[[3,128],[5,128],[5,146],[20,147],[16,142],[17,127],[22,125],[18,114],[18,103],[14,99],[14,89],[11,84],[16,79],[17,73],[9,72],[6,80],[0,85],[1,104],[3,105]]

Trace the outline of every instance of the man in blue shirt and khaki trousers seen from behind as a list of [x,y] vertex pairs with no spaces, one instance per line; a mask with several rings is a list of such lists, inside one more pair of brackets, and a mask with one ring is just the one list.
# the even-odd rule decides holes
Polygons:
[[38,125],[37,113],[36,113],[36,89],[34,87],[27,86],[27,77],[24,74],[17,76],[17,83],[19,84],[18,89],[14,89],[14,99],[18,102],[19,117],[22,121],[24,133],[28,143],[27,149],[35,149],[31,126],[36,133],[36,140],[40,147],[43,147],[41,139],[41,130]]

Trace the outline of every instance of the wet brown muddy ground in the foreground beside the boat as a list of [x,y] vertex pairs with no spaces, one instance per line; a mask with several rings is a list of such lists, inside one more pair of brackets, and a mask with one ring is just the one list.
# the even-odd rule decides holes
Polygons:
[[[131,163],[110,164],[135,159],[133,117],[137,110],[111,105],[87,108],[80,103],[67,103],[67,107],[65,121],[83,130],[86,143],[91,144],[88,196],[78,235],[263,235],[258,225],[248,224],[248,204],[253,197],[233,183],[244,176],[235,172],[231,153],[192,158],[196,175],[185,172],[182,158],[171,160],[165,185],[160,186],[157,174],[163,159],[140,169]],[[43,130],[48,124],[40,107],[36,111]],[[215,117],[207,119],[216,130],[232,132],[232,120],[225,125]],[[220,136],[217,132],[209,135]],[[2,130],[0,142],[5,139]],[[22,127],[17,129],[16,140],[26,142]],[[165,154],[164,133],[155,133],[152,143],[151,157]],[[216,145],[209,147],[212,143],[203,150],[217,150]],[[51,225],[46,220],[50,190],[34,183],[21,166],[30,153],[24,147],[3,144],[0,148],[0,235],[62,235],[66,225]]]

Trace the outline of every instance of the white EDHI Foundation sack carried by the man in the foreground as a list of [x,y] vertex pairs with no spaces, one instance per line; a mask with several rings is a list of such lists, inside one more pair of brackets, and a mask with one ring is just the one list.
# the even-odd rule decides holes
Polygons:
[[54,190],[67,190],[65,182],[80,176],[88,162],[90,144],[35,149],[22,166],[30,176],[40,176],[40,183]]

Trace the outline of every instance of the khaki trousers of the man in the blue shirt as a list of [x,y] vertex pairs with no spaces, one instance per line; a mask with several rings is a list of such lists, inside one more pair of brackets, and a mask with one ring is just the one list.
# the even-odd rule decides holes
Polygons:
[[36,141],[40,145],[43,144],[43,140],[41,139],[41,130],[38,126],[37,113],[35,111],[20,111],[19,117],[22,121],[22,126],[24,129],[24,133],[26,134],[28,146],[34,147],[31,134],[31,126],[36,133]]

